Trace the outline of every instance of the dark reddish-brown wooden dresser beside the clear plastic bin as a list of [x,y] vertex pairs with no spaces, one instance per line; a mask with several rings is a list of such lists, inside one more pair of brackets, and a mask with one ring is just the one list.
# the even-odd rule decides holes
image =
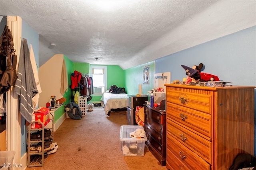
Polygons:
[[166,162],[166,113],[144,104],[146,145],[161,166]]

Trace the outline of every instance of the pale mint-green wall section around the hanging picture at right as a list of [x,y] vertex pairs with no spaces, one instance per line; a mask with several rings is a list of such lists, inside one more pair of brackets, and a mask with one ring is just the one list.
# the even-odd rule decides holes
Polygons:
[[[149,66],[149,83],[143,84],[143,68]],[[154,88],[154,72],[155,62],[149,62],[128,68],[124,70],[125,87],[127,94],[134,95],[139,93],[139,84],[142,85],[142,94],[147,95],[147,92]]]

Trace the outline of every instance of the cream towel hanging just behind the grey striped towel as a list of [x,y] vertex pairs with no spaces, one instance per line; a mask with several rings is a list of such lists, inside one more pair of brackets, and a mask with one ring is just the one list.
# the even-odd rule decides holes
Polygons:
[[36,109],[38,107],[38,103],[39,103],[39,94],[42,92],[42,89],[41,89],[39,77],[38,77],[38,67],[36,65],[36,59],[35,59],[34,51],[33,51],[31,44],[30,44],[30,60],[31,60],[32,68],[33,68],[34,79],[36,82],[36,89],[38,90],[38,94],[36,94],[32,98],[33,107],[34,107],[34,109]]

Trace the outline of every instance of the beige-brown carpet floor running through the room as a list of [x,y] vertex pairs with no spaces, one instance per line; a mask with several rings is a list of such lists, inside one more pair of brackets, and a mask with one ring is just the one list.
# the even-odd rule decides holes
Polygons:
[[105,115],[94,107],[81,120],[65,119],[56,132],[57,152],[43,167],[26,170],[166,170],[145,145],[144,156],[123,156],[120,127],[127,125],[126,111]]

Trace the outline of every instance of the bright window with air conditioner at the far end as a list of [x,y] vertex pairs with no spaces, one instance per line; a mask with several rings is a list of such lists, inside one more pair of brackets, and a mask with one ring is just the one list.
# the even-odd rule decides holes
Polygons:
[[90,66],[92,74],[93,95],[102,95],[106,91],[107,66]]

